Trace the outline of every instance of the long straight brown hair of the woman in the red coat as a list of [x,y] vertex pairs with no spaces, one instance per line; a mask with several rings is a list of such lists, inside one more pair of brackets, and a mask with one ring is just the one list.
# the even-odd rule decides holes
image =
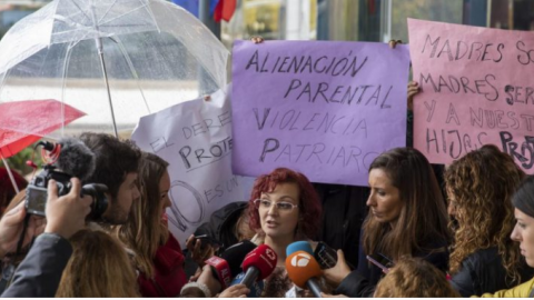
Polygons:
[[158,156],[142,152],[138,177],[141,199],[132,203],[128,222],[118,228],[119,239],[136,253],[132,258],[135,267],[147,278],[154,277],[156,251],[169,238],[169,231],[161,222],[159,192],[159,181],[168,166]]

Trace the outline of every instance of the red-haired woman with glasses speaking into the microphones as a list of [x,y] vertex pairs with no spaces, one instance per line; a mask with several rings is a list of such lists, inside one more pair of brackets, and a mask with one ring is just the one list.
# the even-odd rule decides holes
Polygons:
[[286,248],[295,241],[313,239],[320,214],[319,196],[304,174],[278,168],[256,179],[249,201],[249,226],[259,233],[253,241],[269,246],[278,256],[263,297],[284,297],[293,288],[285,270]]

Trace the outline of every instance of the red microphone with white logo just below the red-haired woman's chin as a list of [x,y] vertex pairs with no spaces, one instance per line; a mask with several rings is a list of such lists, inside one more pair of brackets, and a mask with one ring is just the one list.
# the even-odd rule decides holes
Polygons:
[[265,243],[258,246],[243,261],[241,267],[245,271],[245,277],[240,283],[250,288],[254,282],[264,280],[275,270],[276,260],[275,250]]

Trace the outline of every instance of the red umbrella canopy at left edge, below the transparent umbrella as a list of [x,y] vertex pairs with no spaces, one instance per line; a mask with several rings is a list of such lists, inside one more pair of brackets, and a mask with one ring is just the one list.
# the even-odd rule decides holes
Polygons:
[[[29,109],[31,108],[31,109]],[[62,113],[63,119],[55,116]],[[83,112],[63,106],[58,100],[33,100],[0,103],[2,127],[23,127],[34,134],[0,128],[0,157],[7,159],[57,129],[85,116]]]

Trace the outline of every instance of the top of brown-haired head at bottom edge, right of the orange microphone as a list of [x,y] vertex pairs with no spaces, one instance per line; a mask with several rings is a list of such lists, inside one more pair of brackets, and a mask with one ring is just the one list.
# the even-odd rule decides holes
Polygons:
[[421,258],[403,258],[389,269],[375,290],[375,298],[459,297],[445,274]]

